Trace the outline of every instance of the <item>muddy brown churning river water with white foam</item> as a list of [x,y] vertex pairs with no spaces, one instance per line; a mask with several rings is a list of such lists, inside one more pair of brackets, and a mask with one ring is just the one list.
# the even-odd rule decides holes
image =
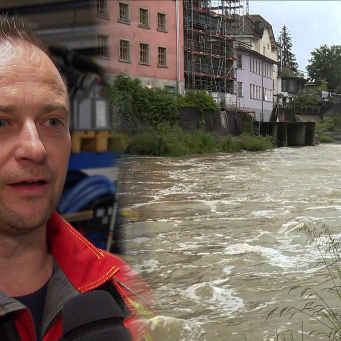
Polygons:
[[301,340],[302,320],[304,339],[322,330],[266,316],[304,305],[292,286],[330,286],[305,229],[341,228],[341,145],[127,157],[120,173],[122,205],[138,217],[119,245],[154,289],[155,339],[276,340],[277,328]]

